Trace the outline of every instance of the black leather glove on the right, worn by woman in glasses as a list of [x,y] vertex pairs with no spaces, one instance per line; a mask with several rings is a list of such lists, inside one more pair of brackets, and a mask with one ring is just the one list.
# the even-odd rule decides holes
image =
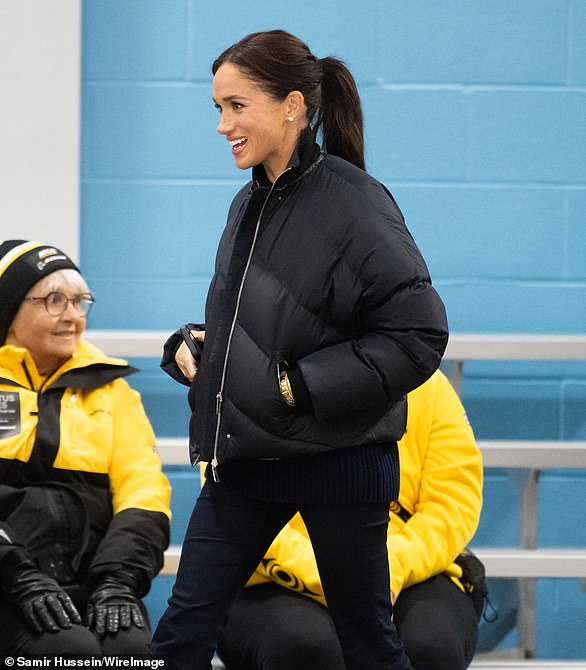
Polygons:
[[144,628],[136,591],[116,577],[105,577],[90,596],[87,625],[98,635],[117,633],[131,626]]

